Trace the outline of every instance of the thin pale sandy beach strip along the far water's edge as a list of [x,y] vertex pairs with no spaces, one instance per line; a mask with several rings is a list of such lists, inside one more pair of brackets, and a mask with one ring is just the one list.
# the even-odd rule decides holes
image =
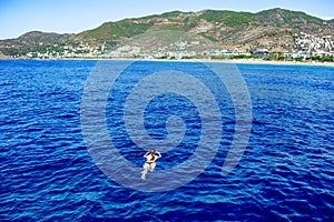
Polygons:
[[217,62],[217,63],[235,63],[235,64],[273,64],[273,65],[314,65],[314,67],[334,67],[334,62],[297,62],[297,61],[274,61],[274,60],[261,60],[261,59],[180,59],[180,60],[169,60],[169,59],[135,59],[135,58],[61,58],[61,59],[20,59],[20,58],[0,58],[1,60],[18,60],[18,61],[61,61],[61,60],[96,60],[96,61],[157,61],[157,62]]

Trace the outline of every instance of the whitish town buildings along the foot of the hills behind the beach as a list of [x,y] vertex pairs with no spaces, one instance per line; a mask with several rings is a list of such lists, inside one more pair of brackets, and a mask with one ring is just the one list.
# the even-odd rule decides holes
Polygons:
[[[193,59],[193,58],[214,58],[214,59],[237,59],[263,57],[272,59],[289,58],[307,60],[311,58],[334,57],[334,41],[332,37],[315,37],[301,32],[294,36],[295,46],[291,51],[271,51],[268,49],[240,50],[236,47],[233,49],[195,50],[194,46],[200,44],[198,41],[177,41],[170,46],[160,47],[156,50],[148,51],[145,46],[120,44],[110,48],[106,43],[90,44],[87,42],[76,42],[73,44],[53,44],[43,46],[39,43],[40,50],[18,53],[11,58],[21,59],[66,59],[66,58],[143,58],[143,59]],[[174,44],[174,46],[173,46]]]

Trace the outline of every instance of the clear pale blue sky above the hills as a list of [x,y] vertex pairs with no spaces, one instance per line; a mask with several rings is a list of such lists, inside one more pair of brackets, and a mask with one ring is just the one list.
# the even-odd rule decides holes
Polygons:
[[106,21],[173,10],[258,12],[272,8],[334,19],[334,0],[0,0],[0,39],[28,31],[78,33]]

